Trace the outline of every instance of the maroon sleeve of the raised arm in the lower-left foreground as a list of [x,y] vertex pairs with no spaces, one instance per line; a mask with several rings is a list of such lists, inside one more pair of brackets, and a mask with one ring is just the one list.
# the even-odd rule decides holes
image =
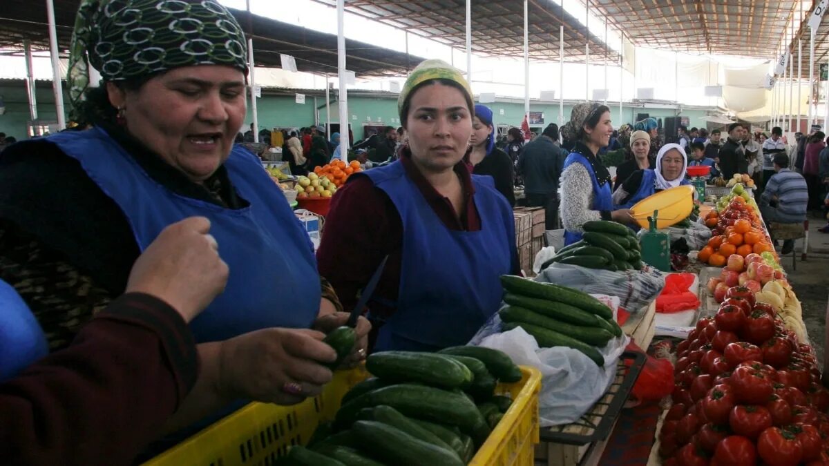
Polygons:
[[3,464],[132,464],[196,381],[187,323],[124,294],[72,344],[0,385]]

